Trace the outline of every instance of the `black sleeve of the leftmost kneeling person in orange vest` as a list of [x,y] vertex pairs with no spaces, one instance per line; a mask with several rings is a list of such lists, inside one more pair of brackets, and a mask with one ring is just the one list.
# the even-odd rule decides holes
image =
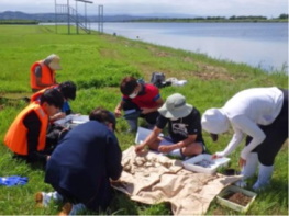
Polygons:
[[46,161],[46,155],[37,151],[38,137],[41,134],[41,121],[33,111],[26,115],[23,121],[27,128],[27,160],[29,161]]

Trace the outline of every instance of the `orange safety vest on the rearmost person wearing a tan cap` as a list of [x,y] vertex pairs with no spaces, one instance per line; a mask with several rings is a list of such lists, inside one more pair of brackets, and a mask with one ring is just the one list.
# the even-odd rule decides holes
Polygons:
[[35,75],[35,68],[40,66],[42,70],[42,77],[41,77],[41,82],[44,84],[55,84],[55,70],[52,70],[48,66],[46,66],[43,60],[40,60],[37,62],[34,62],[31,66],[30,69],[30,86],[31,89],[43,89],[43,87],[38,87],[36,84],[36,75]]

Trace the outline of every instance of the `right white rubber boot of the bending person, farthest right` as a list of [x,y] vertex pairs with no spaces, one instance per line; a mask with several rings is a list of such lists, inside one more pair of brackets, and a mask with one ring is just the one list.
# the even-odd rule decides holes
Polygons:
[[273,170],[274,166],[264,166],[259,163],[259,174],[258,180],[253,185],[254,191],[262,191],[270,183]]

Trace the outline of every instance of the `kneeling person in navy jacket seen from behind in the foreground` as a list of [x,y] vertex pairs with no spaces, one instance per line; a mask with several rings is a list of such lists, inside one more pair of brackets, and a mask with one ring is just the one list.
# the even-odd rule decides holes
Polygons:
[[47,162],[45,182],[56,192],[36,194],[44,206],[52,198],[73,203],[64,205],[63,214],[104,211],[111,200],[110,179],[118,180],[122,172],[113,114],[98,107],[89,118],[66,134]]

